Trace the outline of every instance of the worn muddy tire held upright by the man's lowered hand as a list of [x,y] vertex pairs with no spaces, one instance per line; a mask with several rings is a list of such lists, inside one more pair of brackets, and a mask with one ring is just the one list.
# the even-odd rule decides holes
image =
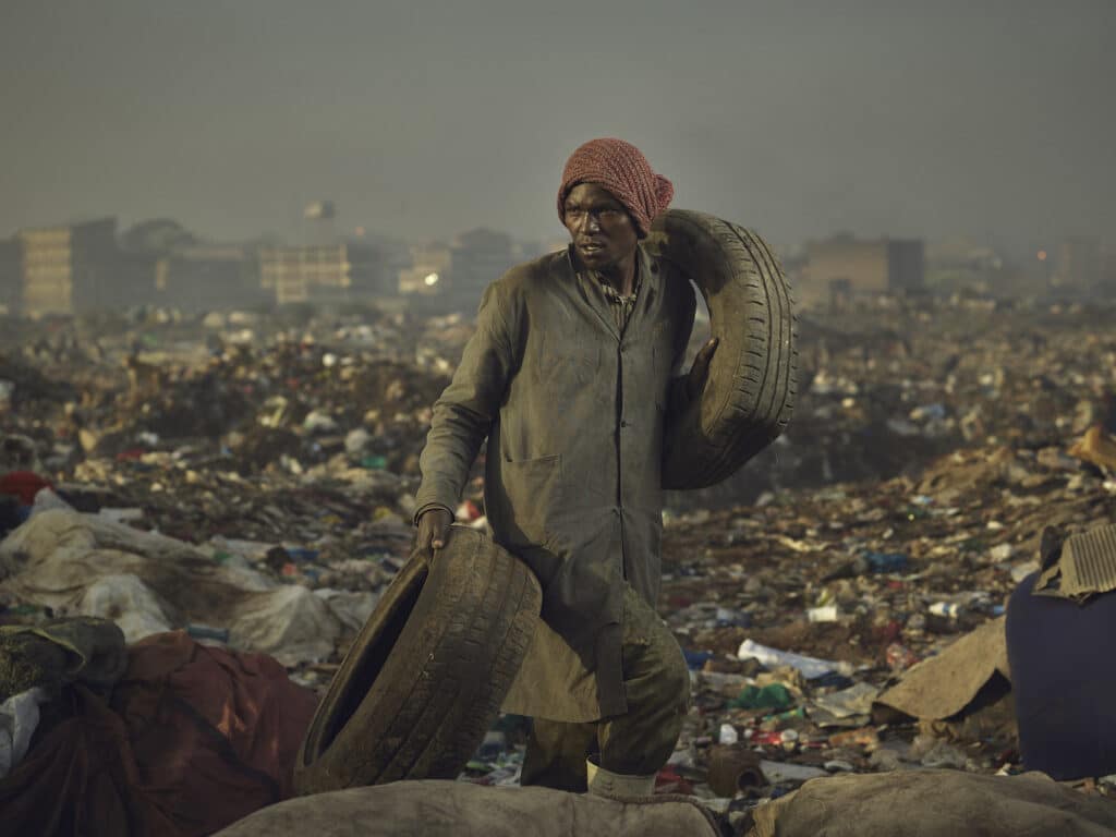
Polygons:
[[454,526],[431,566],[404,565],[354,641],[302,741],[296,790],[455,779],[499,713],[540,606],[525,564]]

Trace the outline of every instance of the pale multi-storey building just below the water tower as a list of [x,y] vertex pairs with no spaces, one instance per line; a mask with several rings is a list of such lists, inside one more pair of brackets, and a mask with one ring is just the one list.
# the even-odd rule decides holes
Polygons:
[[378,250],[340,243],[260,250],[260,285],[279,305],[371,302],[394,295]]

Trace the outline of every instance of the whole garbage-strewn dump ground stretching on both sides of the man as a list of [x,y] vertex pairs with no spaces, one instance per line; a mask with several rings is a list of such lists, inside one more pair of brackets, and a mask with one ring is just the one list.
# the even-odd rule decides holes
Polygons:
[[[660,613],[692,709],[657,793],[743,831],[835,777],[865,798],[925,770],[1026,785],[1020,738],[1037,728],[1020,730],[1016,702],[1036,679],[1016,682],[1004,616],[1052,566],[1051,531],[1066,542],[1116,522],[1113,316],[927,300],[800,324],[785,436],[728,483],[667,502]],[[431,404],[470,333],[468,318],[373,310],[0,328],[0,639],[41,641],[0,643],[6,821],[38,822],[28,800],[65,798],[59,816],[127,810],[155,824],[137,834],[208,834],[290,795],[312,704],[410,555]],[[458,509],[479,529],[482,474]],[[119,632],[115,685],[83,681],[73,642],[51,638],[83,619]],[[23,676],[28,647],[69,674]],[[212,682],[205,666],[217,696],[190,692]],[[173,706],[152,696],[167,682]],[[215,732],[142,734],[172,715]],[[238,743],[279,722],[267,756]],[[501,716],[462,782],[518,785],[526,724]],[[106,742],[119,754],[97,769],[88,752]],[[217,758],[206,747],[240,778],[175,772]],[[141,792],[155,764],[166,792]],[[1116,764],[1087,767],[1055,777],[1058,793],[1116,792]]]

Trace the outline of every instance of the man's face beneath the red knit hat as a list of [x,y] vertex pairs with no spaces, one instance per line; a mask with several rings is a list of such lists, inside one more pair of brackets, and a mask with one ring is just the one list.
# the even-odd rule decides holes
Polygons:
[[566,229],[586,267],[607,272],[631,259],[638,230],[624,204],[596,183],[578,183],[565,202]]

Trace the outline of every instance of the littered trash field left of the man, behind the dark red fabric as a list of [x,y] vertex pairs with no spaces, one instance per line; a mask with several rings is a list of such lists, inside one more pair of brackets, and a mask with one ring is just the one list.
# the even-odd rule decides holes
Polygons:
[[[230,320],[213,350],[208,327]],[[184,628],[328,682],[410,552],[449,381],[398,347],[433,367],[444,338],[405,319],[109,325],[132,328],[70,321],[0,357],[0,522],[28,521],[4,547],[0,620],[109,616],[129,642]]]

